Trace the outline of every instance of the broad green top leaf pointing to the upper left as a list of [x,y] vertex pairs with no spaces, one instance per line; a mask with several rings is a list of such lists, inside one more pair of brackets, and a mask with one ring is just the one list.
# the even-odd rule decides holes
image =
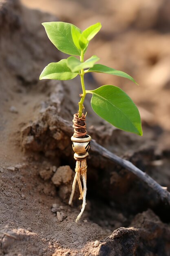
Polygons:
[[82,32],[78,27],[66,22],[44,22],[42,25],[57,49],[66,54],[80,56],[81,51],[75,46],[71,35],[72,27],[75,27],[79,33]]

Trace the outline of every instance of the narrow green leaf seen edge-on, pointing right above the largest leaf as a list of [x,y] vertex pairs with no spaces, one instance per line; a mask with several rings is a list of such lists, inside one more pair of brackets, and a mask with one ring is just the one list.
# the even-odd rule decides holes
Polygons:
[[122,76],[127,79],[130,79],[131,81],[133,81],[134,83],[136,83],[138,85],[138,83],[132,78],[132,76],[126,74],[123,71],[115,70],[114,68],[107,67],[102,64],[94,65],[92,68],[89,68],[89,70],[87,72],[97,72],[97,73],[105,73],[105,74],[110,74],[110,75],[115,75],[115,76]]

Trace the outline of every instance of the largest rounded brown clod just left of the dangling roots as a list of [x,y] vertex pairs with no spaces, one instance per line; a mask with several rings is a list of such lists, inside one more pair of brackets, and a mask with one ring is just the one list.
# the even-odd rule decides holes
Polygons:
[[60,186],[61,184],[66,184],[69,181],[71,181],[72,177],[72,169],[70,166],[60,166],[56,173],[52,177],[52,182],[55,184],[55,186]]

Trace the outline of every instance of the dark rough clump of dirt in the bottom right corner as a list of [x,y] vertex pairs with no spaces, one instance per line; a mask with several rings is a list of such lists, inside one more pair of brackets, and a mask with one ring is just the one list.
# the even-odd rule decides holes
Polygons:
[[99,255],[170,255],[170,227],[164,224],[164,228],[165,232],[152,211],[139,213],[130,227],[120,227],[102,240]]

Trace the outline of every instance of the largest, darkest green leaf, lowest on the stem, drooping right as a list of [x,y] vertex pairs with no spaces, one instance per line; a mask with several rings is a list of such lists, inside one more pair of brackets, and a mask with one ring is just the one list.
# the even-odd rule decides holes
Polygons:
[[130,97],[114,85],[103,85],[92,93],[91,106],[95,113],[113,126],[142,135],[139,110]]

